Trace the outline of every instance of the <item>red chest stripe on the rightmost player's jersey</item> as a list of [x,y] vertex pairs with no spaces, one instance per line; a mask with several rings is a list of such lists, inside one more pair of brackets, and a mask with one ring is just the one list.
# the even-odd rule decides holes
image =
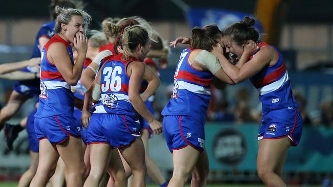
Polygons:
[[285,64],[278,67],[274,72],[266,75],[264,78],[258,78],[256,80],[252,79],[252,83],[256,88],[261,88],[269,83],[276,81],[280,76],[282,76],[286,71]]

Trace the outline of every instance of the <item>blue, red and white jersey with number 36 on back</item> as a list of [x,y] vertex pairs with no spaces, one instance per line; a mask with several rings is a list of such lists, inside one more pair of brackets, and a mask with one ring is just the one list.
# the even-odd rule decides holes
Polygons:
[[129,100],[129,81],[126,69],[134,58],[122,60],[122,54],[103,59],[100,71],[100,103],[94,106],[94,113],[122,114],[134,117],[134,108]]

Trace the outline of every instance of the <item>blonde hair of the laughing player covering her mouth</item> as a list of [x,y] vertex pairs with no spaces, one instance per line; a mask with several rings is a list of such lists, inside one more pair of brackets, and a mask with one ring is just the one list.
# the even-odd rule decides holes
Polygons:
[[75,15],[82,17],[82,19],[84,20],[84,34],[87,33],[88,25],[91,22],[91,16],[87,12],[85,12],[83,10],[79,10],[79,9],[61,8],[58,6],[55,7],[55,12],[58,14],[58,16],[56,18],[55,26],[54,26],[55,34],[58,34],[61,32],[61,24],[68,25],[68,23],[71,21],[72,17]]

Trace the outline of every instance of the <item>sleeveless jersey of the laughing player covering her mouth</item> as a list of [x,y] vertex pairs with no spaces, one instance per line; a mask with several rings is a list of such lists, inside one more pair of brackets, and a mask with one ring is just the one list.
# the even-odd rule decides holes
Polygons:
[[61,76],[57,67],[47,58],[49,46],[54,42],[63,43],[70,55],[72,64],[73,51],[68,42],[58,35],[53,36],[44,46],[40,63],[40,95],[37,118],[58,114],[73,115],[74,101],[71,86]]

